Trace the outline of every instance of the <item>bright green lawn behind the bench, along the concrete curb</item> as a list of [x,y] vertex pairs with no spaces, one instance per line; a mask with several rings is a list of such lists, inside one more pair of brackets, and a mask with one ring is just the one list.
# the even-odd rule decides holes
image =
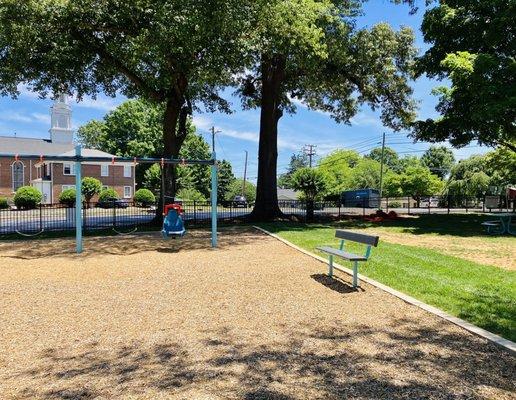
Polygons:
[[[404,222],[406,224],[406,222]],[[432,226],[412,226],[430,233]],[[466,224],[467,225],[467,224]],[[337,246],[335,228],[342,224],[261,224],[269,232],[309,251]],[[453,226],[453,225],[452,225]],[[473,226],[473,225],[471,225]],[[436,225],[435,228],[441,226]],[[398,227],[404,228],[404,227]],[[451,228],[456,229],[455,227]],[[477,225],[478,229],[478,225]],[[467,226],[462,235],[472,235]],[[450,234],[450,233],[447,233]],[[362,252],[350,246],[353,252]],[[342,264],[345,262],[342,260]],[[481,265],[435,250],[381,242],[359,272],[427,304],[516,341],[516,272]]]

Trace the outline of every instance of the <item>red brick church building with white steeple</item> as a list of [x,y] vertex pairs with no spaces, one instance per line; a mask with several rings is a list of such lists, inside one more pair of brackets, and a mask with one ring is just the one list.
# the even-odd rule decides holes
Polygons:
[[[12,198],[21,186],[31,185],[43,194],[43,204],[59,202],[63,190],[75,187],[74,163],[45,161],[45,156],[73,156],[75,143],[72,109],[65,95],[51,107],[49,139],[0,136],[0,154],[17,154],[18,158],[0,157],[0,197]],[[41,155],[40,160],[23,159],[24,155]],[[113,155],[94,149],[82,149],[85,157]],[[82,176],[97,178],[104,188],[113,188],[118,196],[132,200],[135,188],[134,165],[130,162],[84,163]],[[95,199],[93,199],[95,200]]]

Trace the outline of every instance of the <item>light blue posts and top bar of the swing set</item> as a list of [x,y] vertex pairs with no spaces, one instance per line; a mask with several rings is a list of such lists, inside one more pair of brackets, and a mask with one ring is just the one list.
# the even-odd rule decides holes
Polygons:
[[[75,156],[45,156],[44,159],[47,161],[58,161],[58,162],[74,162],[75,163],[75,244],[76,244],[76,252],[81,253],[83,249],[83,239],[82,239],[82,226],[83,226],[83,212],[82,212],[82,194],[81,194],[81,180],[82,180],[82,163],[106,163],[111,162],[112,165],[115,162],[134,162],[136,165],[138,164],[155,164],[160,163],[162,166],[165,164],[174,164],[174,165],[209,165],[211,167],[211,246],[217,247],[217,161],[215,152],[212,153],[212,158],[210,160],[186,160],[186,159],[174,159],[174,158],[140,158],[140,157],[100,157],[100,156],[82,156],[81,154],[81,146],[75,147]],[[9,154],[9,153],[0,153],[0,157],[7,157],[18,159],[18,154]],[[43,160],[42,155],[23,155],[24,159],[27,160]],[[173,210],[173,208],[172,208]],[[177,210],[176,210],[177,213]],[[178,215],[179,216],[179,215]],[[165,218],[168,223],[172,223],[175,221],[175,226],[177,228],[178,221],[182,219],[176,218],[172,220],[168,218],[168,215]],[[172,227],[172,225],[170,225]],[[164,226],[165,229],[165,226]],[[184,229],[184,227],[183,227]],[[172,230],[170,231],[172,232]],[[179,230],[178,230],[179,232]],[[41,234],[42,232],[38,232]],[[120,234],[124,234],[122,232],[117,232]],[[23,233],[20,233],[23,235]],[[127,234],[127,233],[126,233]],[[183,233],[184,235],[184,233]],[[31,235],[34,236],[34,235]],[[182,236],[182,235],[181,235]]]

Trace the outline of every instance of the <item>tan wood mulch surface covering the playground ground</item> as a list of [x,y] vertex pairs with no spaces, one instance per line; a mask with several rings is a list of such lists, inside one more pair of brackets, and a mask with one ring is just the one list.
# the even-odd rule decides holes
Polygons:
[[256,231],[0,243],[0,399],[515,399],[516,357]]

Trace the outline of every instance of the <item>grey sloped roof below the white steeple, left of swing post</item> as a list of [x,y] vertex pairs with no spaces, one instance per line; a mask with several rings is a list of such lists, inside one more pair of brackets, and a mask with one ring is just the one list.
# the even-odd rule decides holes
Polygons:
[[52,143],[48,139],[0,136],[0,153],[57,156],[74,149],[73,143]]

